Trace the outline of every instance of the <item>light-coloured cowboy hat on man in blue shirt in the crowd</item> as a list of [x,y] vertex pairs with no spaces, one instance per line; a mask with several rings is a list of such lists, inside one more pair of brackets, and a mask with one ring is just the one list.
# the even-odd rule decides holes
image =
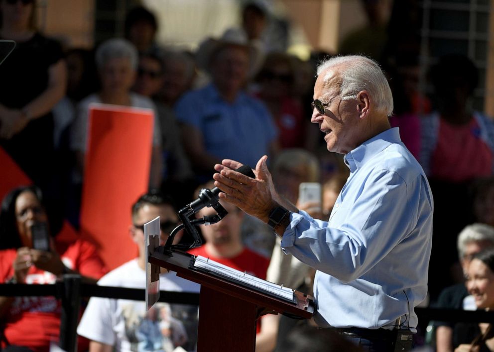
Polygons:
[[223,33],[221,38],[208,38],[201,43],[196,52],[197,66],[208,73],[213,55],[221,48],[227,45],[241,46],[248,49],[249,54],[249,70],[248,76],[254,76],[259,70],[264,58],[262,49],[259,45],[251,43],[247,40],[247,35],[240,28],[230,28]]

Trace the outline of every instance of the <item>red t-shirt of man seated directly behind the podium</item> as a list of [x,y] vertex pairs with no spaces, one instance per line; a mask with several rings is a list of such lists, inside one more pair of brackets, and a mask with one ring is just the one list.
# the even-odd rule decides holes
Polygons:
[[[204,245],[198,248],[191,249],[189,253],[194,256],[203,256],[209,258],[215,262],[230,266],[240,271],[247,271],[248,274],[257,276],[258,278],[261,278],[263,280],[266,278],[267,267],[269,266],[268,259],[258,255],[255,252],[252,252],[248,248],[244,248],[244,250],[237,257],[234,258],[218,258],[210,256],[206,252],[206,246]],[[257,320],[256,332],[259,333],[259,331],[260,320]]]

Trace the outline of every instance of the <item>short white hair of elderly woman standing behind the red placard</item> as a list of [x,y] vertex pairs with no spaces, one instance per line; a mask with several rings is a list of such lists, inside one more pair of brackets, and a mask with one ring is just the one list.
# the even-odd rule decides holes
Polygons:
[[96,50],[95,59],[98,70],[102,70],[110,59],[128,58],[133,70],[137,70],[139,56],[137,49],[128,40],[113,38],[103,42]]

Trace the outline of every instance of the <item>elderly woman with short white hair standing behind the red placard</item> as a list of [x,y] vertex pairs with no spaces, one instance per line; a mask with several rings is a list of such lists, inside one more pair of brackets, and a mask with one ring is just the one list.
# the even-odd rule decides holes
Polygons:
[[82,175],[87,148],[89,106],[92,103],[153,109],[153,149],[149,177],[149,187],[153,188],[159,187],[161,183],[161,132],[156,107],[151,99],[130,91],[136,77],[137,62],[137,50],[125,39],[107,40],[96,50],[101,88],[79,103],[72,125],[70,147],[76,153],[78,171]]

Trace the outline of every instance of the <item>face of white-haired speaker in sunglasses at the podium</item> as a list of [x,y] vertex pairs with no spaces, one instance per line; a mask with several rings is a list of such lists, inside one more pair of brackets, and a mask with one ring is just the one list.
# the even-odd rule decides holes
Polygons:
[[330,104],[326,106],[325,115],[314,108],[311,122],[319,124],[319,129],[325,134],[328,151],[347,154],[362,142],[362,127],[357,100],[340,98],[339,81],[338,74],[332,69],[319,75],[314,86],[314,99]]

